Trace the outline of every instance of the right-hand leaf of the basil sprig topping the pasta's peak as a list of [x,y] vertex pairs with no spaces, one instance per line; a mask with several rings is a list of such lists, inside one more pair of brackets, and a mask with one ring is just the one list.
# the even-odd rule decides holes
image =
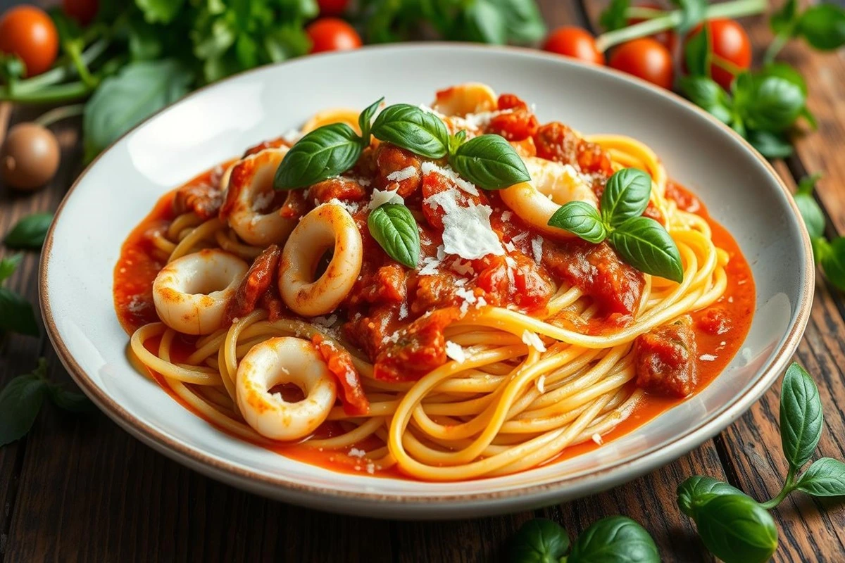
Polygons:
[[449,164],[485,190],[500,190],[531,180],[519,154],[499,135],[481,135],[461,144]]

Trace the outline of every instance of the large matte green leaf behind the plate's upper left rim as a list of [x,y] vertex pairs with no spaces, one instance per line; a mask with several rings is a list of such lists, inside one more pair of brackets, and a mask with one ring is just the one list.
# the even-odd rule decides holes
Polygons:
[[85,160],[92,160],[123,133],[187,94],[193,80],[173,59],[130,62],[116,76],[103,80],[85,104]]

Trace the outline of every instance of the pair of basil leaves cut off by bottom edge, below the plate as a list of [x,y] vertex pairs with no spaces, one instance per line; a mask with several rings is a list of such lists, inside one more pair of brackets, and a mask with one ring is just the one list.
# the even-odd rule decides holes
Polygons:
[[660,561],[657,545],[645,528],[628,517],[611,516],[594,522],[572,544],[564,528],[546,518],[524,523],[510,540],[510,563],[588,563]]

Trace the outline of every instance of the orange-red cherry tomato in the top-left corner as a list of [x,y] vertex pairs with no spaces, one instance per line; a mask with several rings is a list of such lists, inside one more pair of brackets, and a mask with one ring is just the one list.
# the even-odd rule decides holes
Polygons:
[[11,8],[0,18],[0,52],[20,57],[26,65],[26,76],[41,74],[56,61],[56,26],[40,8]]

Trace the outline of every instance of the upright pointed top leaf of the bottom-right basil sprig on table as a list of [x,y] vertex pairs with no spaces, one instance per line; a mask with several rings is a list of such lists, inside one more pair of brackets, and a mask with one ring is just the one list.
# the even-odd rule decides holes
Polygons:
[[819,443],[824,416],[815,382],[796,362],[783,376],[780,420],[783,455],[798,471],[810,461]]

